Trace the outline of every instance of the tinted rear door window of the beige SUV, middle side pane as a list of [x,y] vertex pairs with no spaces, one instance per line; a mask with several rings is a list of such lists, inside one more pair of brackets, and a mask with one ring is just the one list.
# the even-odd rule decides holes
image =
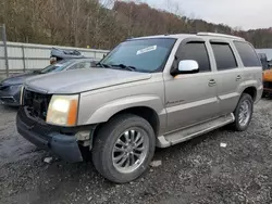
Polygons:
[[237,67],[236,59],[228,43],[211,42],[218,71],[232,69]]

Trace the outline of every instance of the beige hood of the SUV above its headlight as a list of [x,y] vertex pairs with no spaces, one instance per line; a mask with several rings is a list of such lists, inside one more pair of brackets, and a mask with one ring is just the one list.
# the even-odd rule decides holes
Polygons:
[[151,74],[111,68],[86,68],[39,75],[26,80],[27,89],[45,93],[79,93],[84,91],[149,79]]

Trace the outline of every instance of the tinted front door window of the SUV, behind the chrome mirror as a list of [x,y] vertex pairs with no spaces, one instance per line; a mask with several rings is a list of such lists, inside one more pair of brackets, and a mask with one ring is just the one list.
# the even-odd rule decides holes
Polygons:
[[205,42],[191,41],[183,44],[177,50],[178,61],[182,60],[195,60],[198,62],[199,72],[210,72],[210,60],[208,55],[208,51],[206,49]]

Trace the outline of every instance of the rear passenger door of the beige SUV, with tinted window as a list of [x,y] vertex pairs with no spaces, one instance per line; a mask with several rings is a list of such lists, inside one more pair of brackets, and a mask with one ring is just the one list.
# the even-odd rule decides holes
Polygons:
[[215,65],[217,65],[217,87],[220,101],[220,114],[232,113],[239,100],[239,87],[243,85],[244,72],[238,66],[238,61],[234,54],[234,47],[227,41],[210,41]]

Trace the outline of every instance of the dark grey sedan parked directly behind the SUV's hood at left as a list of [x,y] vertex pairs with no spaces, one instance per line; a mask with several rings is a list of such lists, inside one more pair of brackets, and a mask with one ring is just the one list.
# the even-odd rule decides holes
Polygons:
[[9,77],[0,82],[0,103],[4,105],[17,106],[20,104],[22,84],[29,77],[62,71],[89,68],[95,66],[95,64],[96,62],[92,59],[87,58],[62,60],[40,71],[34,71]]

